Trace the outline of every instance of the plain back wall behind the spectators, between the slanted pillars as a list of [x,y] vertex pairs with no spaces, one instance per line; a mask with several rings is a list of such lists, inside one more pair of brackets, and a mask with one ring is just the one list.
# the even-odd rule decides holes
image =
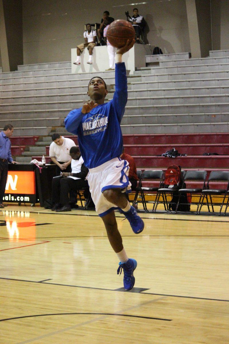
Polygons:
[[[23,0],[24,64],[70,61],[71,48],[83,41],[84,24],[100,22],[104,10],[126,19],[135,6],[128,0]],[[147,39],[163,52],[188,52],[190,43],[185,0],[151,0],[137,5],[147,21]],[[90,11],[90,9],[92,9]]]

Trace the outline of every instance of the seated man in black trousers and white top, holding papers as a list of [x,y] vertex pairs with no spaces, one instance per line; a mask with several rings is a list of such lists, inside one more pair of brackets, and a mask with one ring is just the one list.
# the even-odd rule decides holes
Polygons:
[[70,155],[72,158],[71,172],[62,172],[60,177],[54,177],[52,181],[52,211],[71,211],[69,192],[88,187],[88,181],[85,179],[88,175],[88,168],[84,165],[79,148],[72,147]]

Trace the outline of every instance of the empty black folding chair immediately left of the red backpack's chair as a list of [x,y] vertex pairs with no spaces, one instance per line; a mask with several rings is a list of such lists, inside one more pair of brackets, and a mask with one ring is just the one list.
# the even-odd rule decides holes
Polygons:
[[[145,192],[150,192],[150,193],[156,192],[155,201],[149,201],[148,202],[148,203],[153,203],[153,208],[154,208],[155,202],[157,201],[157,197],[158,197],[158,189],[159,189],[159,187],[162,186],[163,171],[162,170],[145,170],[141,175],[141,183],[143,180],[149,181],[149,182],[153,182],[153,181],[158,182],[157,187],[142,187],[141,185],[136,187],[136,194],[135,194],[136,199],[137,199],[138,193],[140,192],[140,194],[141,194],[141,201],[140,202],[143,205],[143,209],[146,212],[149,212],[147,209],[147,205],[146,205]],[[153,209],[152,209],[152,211],[153,211]]]

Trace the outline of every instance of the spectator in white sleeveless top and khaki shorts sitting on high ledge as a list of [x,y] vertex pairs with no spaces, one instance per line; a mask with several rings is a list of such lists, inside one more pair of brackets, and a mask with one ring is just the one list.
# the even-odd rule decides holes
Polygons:
[[89,60],[88,64],[92,64],[92,50],[96,45],[96,31],[91,30],[91,24],[86,24],[87,30],[84,31],[84,43],[77,45],[77,59],[73,64],[80,65],[80,53],[83,52],[84,48],[88,48],[89,50]]

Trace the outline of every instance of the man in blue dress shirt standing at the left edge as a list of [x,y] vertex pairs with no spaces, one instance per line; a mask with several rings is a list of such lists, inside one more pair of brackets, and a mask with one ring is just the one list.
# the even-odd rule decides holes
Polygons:
[[4,208],[3,197],[5,194],[5,185],[7,183],[8,162],[11,164],[18,164],[13,161],[11,156],[11,142],[10,137],[13,134],[13,126],[6,124],[0,133],[0,208]]

